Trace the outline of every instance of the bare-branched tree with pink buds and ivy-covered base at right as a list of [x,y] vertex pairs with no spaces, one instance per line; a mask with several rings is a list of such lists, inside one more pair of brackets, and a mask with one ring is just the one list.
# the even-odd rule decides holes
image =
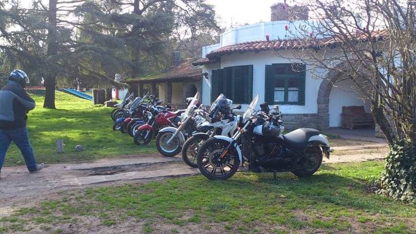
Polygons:
[[[370,101],[392,149],[380,191],[415,201],[416,2],[310,0],[301,5],[311,20],[286,28],[285,40],[304,42],[293,56],[309,64],[316,78],[349,80]],[[331,74],[335,79],[328,78]]]

